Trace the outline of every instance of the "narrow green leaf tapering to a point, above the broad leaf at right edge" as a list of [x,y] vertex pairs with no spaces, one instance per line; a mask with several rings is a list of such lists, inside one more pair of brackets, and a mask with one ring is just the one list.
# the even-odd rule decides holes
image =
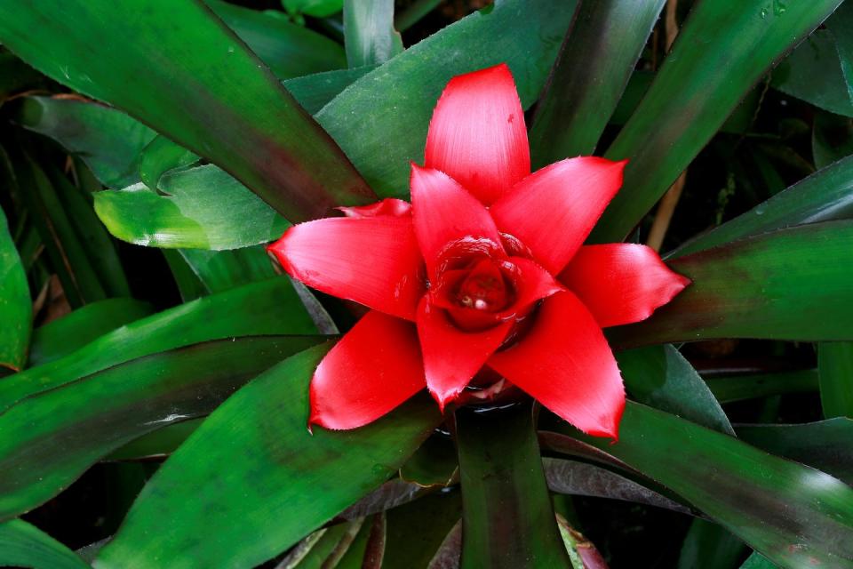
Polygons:
[[667,259],[727,244],[746,236],[803,223],[853,217],[853,156],[839,160],[743,215],[698,236]]

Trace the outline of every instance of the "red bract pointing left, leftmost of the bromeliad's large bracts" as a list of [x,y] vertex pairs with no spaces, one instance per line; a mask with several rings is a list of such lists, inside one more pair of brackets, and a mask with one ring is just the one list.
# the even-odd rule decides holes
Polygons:
[[414,320],[425,292],[411,216],[326,218],[268,247],[293,278],[323,293]]

